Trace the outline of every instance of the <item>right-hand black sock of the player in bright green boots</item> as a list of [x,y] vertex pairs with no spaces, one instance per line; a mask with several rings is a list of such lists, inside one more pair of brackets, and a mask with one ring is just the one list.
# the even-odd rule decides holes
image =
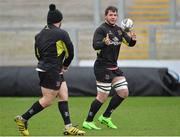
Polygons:
[[110,117],[111,114],[112,114],[112,111],[115,110],[120,104],[121,102],[124,100],[124,98],[118,96],[117,94],[115,94],[110,102],[109,102],[109,105],[106,109],[106,111],[104,112],[103,116],[104,117]]

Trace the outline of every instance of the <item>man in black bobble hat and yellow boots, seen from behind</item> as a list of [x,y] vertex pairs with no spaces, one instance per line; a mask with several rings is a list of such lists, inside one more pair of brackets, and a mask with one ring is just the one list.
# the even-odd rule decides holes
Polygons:
[[43,96],[24,114],[15,117],[19,131],[24,136],[29,135],[27,128],[28,120],[44,108],[50,106],[56,97],[59,101],[59,112],[64,120],[64,134],[85,134],[84,131],[72,126],[70,120],[68,89],[63,74],[68,70],[74,57],[74,49],[68,33],[60,28],[62,19],[63,15],[56,9],[56,6],[54,4],[49,5],[47,26],[35,36],[35,55],[38,59],[36,70],[39,74]]

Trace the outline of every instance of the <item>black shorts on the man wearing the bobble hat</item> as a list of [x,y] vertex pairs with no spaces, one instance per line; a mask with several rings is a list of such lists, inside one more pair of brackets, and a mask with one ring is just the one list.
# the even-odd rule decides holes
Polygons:
[[47,72],[39,72],[39,85],[44,88],[58,90],[61,83],[64,81],[63,74],[59,74],[59,71],[50,70]]

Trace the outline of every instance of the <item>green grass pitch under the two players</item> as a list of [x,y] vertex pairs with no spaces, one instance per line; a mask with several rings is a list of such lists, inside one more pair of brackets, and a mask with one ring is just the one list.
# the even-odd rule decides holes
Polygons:
[[[69,108],[74,125],[82,128],[94,97],[70,97]],[[14,117],[25,112],[37,97],[0,97],[0,136],[19,136]],[[112,114],[117,130],[97,121],[106,102],[95,117],[100,131],[85,130],[87,136],[180,136],[180,97],[129,97]],[[63,121],[57,103],[29,121],[31,136],[62,136]]]

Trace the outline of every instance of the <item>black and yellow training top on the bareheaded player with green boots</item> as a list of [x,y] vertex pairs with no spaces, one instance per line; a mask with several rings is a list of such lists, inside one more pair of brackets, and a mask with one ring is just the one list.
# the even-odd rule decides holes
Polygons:
[[[105,45],[104,42],[107,34],[109,34],[111,40],[109,46]],[[132,40],[119,26],[112,26],[107,23],[101,24],[96,29],[93,37],[93,48],[97,51],[95,65],[116,67],[122,42],[128,46],[134,46],[136,44],[136,41]]]

